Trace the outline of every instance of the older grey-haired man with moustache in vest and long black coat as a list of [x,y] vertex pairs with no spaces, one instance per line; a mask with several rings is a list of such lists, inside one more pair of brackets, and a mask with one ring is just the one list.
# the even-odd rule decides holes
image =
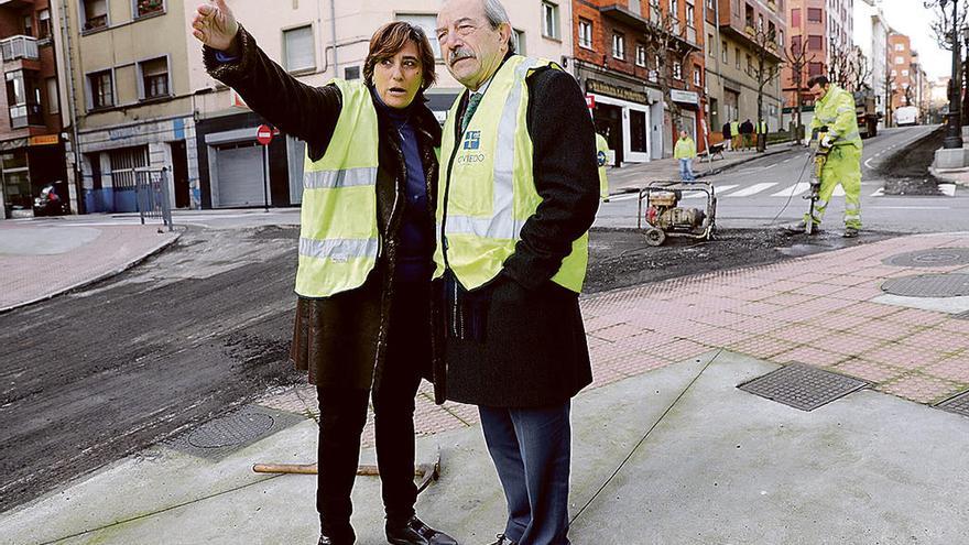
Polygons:
[[479,406],[508,500],[497,544],[567,544],[570,399],[591,382],[578,293],[598,207],[592,122],[571,76],[514,54],[497,0],[446,1],[437,39],[467,88],[440,155],[446,395]]

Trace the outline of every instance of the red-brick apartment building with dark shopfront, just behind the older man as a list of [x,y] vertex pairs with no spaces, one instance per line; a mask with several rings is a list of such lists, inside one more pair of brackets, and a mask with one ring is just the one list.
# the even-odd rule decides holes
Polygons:
[[679,129],[703,149],[703,9],[694,0],[573,2],[574,74],[617,164],[671,155]]

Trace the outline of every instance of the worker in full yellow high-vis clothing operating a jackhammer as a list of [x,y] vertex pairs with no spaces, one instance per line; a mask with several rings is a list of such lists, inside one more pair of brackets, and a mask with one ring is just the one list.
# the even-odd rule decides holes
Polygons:
[[812,133],[818,133],[818,149],[828,156],[820,172],[820,189],[814,214],[806,214],[807,221],[820,225],[830,204],[835,188],[845,189],[845,232],[853,238],[861,230],[861,134],[854,112],[854,98],[850,92],[830,83],[826,76],[816,76],[807,87],[817,94]]

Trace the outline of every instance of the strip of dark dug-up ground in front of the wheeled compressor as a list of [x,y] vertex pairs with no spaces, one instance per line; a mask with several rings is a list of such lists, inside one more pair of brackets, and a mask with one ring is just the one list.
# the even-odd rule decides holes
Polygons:
[[787,235],[781,229],[720,229],[710,241],[667,238],[658,247],[646,246],[636,229],[595,228],[590,232],[589,271],[585,293],[605,292],[678,276],[774,263],[868,242],[897,233],[863,231],[843,239],[839,231]]

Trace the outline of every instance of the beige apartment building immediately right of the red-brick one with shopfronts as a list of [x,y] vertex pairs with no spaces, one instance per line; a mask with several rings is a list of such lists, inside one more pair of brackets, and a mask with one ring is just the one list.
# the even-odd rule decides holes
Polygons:
[[[763,119],[781,130],[780,66],[784,62],[787,25],[785,0],[708,0],[707,92],[711,130],[725,123]],[[758,110],[760,57],[764,58],[763,110]],[[771,73],[775,77],[770,78]]]

